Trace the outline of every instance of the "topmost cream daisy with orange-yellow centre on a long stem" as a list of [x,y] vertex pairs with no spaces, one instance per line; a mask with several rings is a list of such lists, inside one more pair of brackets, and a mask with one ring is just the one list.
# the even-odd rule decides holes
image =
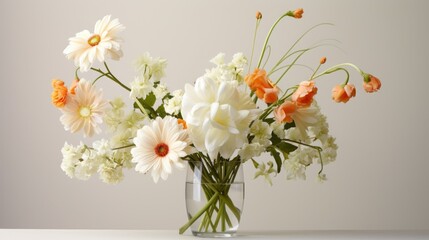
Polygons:
[[104,62],[106,56],[119,60],[122,57],[120,39],[117,34],[125,27],[118,19],[110,20],[110,15],[98,20],[94,33],[84,30],[69,38],[69,45],[63,53],[68,59],[73,59],[76,66],[83,72],[88,71],[94,60]]

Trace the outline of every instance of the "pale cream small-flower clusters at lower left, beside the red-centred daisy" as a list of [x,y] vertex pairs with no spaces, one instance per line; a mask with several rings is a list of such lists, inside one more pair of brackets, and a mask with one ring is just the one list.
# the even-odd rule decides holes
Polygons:
[[114,133],[110,141],[101,139],[93,142],[92,147],[83,143],[76,147],[64,144],[61,169],[67,176],[87,180],[99,173],[103,182],[114,184],[122,180],[123,168],[132,167],[129,149],[120,147],[132,144],[137,130],[144,125],[145,116],[137,111],[125,114],[125,104],[120,98],[110,102],[110,105],[104,118],[109,130]]

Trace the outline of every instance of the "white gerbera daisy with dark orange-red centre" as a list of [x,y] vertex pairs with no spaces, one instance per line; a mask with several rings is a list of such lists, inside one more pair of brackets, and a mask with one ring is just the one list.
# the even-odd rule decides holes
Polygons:
[[133,142],[136,146],[131,149],[131,161],[137,163],[136,171],[147,173],[151,170],[155,183],[160,176],[167,179],[172,164],[184,167],[180,158],[188,154],[190,144],[186,130],[171,116],[157,117],[151,125],[139,129]]

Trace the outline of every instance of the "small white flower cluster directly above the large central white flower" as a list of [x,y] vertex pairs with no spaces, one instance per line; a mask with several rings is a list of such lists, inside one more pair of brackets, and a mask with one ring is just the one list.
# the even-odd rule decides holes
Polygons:
[[234,80],[239,83],[243,82],[243,69],[247,65],[247,59],[243,53],[234,54],[232,61],[229,63],[225,63],[225,53],[219,53],[210,62],[215,64],[216,67],[207,69],[205,77],[211,78],[216,82]]

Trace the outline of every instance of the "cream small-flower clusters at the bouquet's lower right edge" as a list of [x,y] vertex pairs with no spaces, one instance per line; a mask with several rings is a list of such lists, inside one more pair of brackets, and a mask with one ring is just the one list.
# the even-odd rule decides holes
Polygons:
[[[326,165],[335,161],[337,156],[338,146],[335,143],[335,138],[329,135],[329,126],[326,121],[326,116],[320,112],[320,108],[316,101],[313,101],[313,106],[318,111],[314,118],[317,122],[308,127],[306,134],[302,134],[298,128],[290,128],[286,130],[286,137],[294,141],[302,143],[315,143],[317,140],[320,143],[321,153],[314,148],[300,145],[295,151],[289,153],[288,159],[284,161],[283,167],[287,172],[287,179],[306,179],[305,168],[317,160],[320,164]],[[310,134],[310,136],[308,134]],[[320,156],[322,158],[320,158]],[[320,181],[326,180],[326,175],[319,173]]]

